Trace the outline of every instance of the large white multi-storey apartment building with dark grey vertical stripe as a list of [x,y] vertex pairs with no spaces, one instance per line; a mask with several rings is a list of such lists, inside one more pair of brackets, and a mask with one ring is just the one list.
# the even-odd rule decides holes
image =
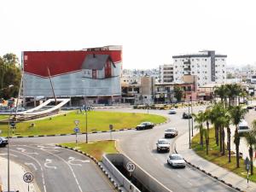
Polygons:
[[203,50],[196,54],[174,55],[173,80],[182,82],[183,75],[196,75],[197,86],[226,82],[227,55],[215,54],[214,50]]

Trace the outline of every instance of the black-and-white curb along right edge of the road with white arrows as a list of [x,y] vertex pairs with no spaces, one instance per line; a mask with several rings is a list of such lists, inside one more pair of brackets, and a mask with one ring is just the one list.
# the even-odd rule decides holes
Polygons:
[[110,176],[110,174],[103,168],[103,166],[101,165],[101,163],[96,160],[95,157],[91,156],[90,154],[86,154],[84,153],[83,151],[79,150],[79,149],[75,149],[75,148],[70,148],[70,147],[66,147],[66,146],[62,146],[62,145],[59,145],[59,144],[56,144],[55,145],[56,147],[60,147],[60,148],[67,148],[67,149],[70,149],[70,150],[73,150],[75,152],[78,152],[79,154],[84,154],[84,156],[90,158],[90,160],[93,160],[96,165],[102,170],[102,172],[108,177],[108,180],[113,183],[113,186],[114,186],[114,189],[118,189],[119,192],[123,192],[123,190],[121,188],[119,188],[119,185],[117,183],[114,182],[113,178]]

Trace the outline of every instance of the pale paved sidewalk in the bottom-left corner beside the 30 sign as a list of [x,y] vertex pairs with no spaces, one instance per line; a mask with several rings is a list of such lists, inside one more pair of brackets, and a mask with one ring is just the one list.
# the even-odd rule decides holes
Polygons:
[[[28,184],[23,181],[23,175],[26,170],[16,164],[14,161],[9,161],[10,167],[10,190],[19,192],[27,192]],[[7,159],[0,156],[0,185],[3,185],[3,191],[8,190],[8,171],[7,171]],[[34,183],[29,184],[30,192],[38,192],[39,190],[36,188]]]

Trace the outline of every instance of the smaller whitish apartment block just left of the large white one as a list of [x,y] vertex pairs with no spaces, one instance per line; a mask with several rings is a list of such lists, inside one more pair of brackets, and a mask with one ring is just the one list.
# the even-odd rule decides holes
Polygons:
[[160,65],[160,84],[173,81],[173,64]]

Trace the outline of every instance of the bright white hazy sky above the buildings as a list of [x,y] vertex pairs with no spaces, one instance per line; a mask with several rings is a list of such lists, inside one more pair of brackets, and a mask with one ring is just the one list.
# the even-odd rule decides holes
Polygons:
[[0,55],[123,45],[124,68],[215,49],[255,65],[255,0],[2,0]]

